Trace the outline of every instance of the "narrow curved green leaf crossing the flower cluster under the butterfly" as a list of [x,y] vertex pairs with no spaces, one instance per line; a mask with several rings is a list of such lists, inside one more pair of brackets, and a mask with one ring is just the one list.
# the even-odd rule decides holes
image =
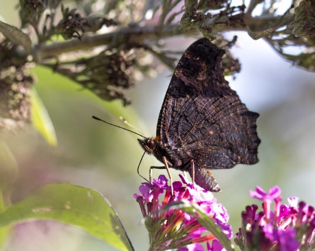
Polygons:
[[220,241],[227,251],[234,251],[234,245],[231,243],[231,241],[222,232],[222,230],[216,226],[212,218],[209,217],[209,215],[207,215],[207,213],[205,213],[201,207],[199,207],[198,204],[179,201],[168,204],[162,210],[168,210],[169,208],[181,209],[182,211],[189,213],[192,217],[198,220],[202,226],[207,228],[207,230],[209,230],[216,237],[216,239]]

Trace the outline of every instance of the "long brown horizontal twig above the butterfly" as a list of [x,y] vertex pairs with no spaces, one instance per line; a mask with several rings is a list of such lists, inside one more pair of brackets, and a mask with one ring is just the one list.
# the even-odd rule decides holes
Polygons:
[[[234,16],[235,17],[235,16]],[[279,18],[282,16],[269,16],[253,18],[251,16],[245,17],[245,22],[247,25],[252,27],[262,27],[262,25],[273,22],[277,23]],[[294,20],[294,15],[287,15],[283,18],[282,25],[290,23]],[[232,21],[230,21],[231,23]],[[221,31],[246,31],[246,27],[238,24],[234,25],[217,25],[215,27],[216,32]],[[42,60],[58,57],[62,53],[71,53],[73,51],[88,51],[93,47],[103,46],[107,44],[117,44],[117,42],[135,42],[141,43],[143,40],[157,40],[160,38],[170,38],[173,36],[197,36],[199,31],[195,29],[184,30],[181,29],[179,25],[164,25],[163,29],[159,29],[157,26],[146,26],[146,27],[125,27],[122,29],[117,29],[107,34],[84,36],[81,40],[68,40],[66,42],[55,42],[53,44],[42,44],[40,48],[34,48],[34,55],[38,62]],[[23,57],[22,51],[18,51],[18,54]]]

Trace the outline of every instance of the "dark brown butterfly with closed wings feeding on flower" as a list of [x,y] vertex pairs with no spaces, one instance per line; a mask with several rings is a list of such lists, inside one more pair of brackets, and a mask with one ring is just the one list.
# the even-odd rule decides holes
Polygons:
[[206,38],[190,45],[166,92],[156,136],[138,140],[166,169],[189,172],[208,191],[220,191],[210,169],[257,163],[260,144],[259,114],[229,88],[220,66],[224,53]]

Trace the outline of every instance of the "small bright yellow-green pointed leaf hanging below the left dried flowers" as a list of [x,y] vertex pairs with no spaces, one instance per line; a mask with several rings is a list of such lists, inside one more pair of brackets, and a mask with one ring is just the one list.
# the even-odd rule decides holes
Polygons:
[[45,108],[45,105],[40,100],[35,88],[31,88],[31,122],[33,127],[47,140],[51,146],[57,145],[57,137],[53,122]]

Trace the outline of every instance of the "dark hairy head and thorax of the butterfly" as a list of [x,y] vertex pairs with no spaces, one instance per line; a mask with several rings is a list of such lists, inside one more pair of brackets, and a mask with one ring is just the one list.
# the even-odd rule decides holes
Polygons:
[[172,168],[176,168],[181,166],[183,163],[179,157],[177,157],[177,153],[175,149],[171,146],[164,145],[158,137],[147,137],[144,140],[138,139],[140,146],[145,150],[149,155],[153,154],[159,161],[163,163],[163,157],[166,157],[168,161],[168,165]]

